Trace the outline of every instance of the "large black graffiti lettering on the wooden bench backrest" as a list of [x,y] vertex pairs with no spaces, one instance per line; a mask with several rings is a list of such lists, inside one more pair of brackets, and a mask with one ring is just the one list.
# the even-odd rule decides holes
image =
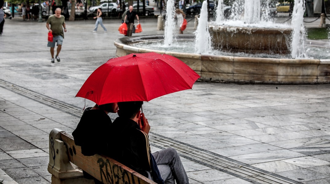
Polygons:
[[[103,158],[99,158],[97,163],[100,167],[100,175],[101,181],[104,183],[103,178],[105,179],[106,183],[111,184],[140,184],[140,178],[138,178],[137,183],[134,180],[134,175],[132,173],[127,172],[126,170],[112,164],[108,159],[106,161]],[[131,176],[129,176],[129,174]],[[122,182],[120,182],[120,180]]]

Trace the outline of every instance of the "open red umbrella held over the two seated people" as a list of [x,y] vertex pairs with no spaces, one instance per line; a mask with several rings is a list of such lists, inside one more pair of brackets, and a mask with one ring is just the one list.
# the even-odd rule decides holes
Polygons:
[[154,52],[112,58],[98,67],[76,96],[98,105],[150,101],[191,89],[200,76],[178,58]]

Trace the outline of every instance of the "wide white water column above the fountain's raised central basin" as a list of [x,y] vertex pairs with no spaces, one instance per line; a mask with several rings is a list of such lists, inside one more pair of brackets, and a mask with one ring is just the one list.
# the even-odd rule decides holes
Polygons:
[[260,22],[260,0],[245,0],[244,21],[248,24]]

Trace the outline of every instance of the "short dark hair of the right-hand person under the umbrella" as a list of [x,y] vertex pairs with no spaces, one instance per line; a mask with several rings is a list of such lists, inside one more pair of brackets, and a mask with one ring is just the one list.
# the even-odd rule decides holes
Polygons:
[[132,119],[140,111],[143,101],[118,102],[120,116]]

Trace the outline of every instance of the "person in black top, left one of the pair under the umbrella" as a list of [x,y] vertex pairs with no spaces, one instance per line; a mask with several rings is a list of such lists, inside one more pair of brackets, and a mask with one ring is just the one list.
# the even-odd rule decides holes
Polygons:
[[[117,110],[117,103],[95,104],[94,107],[85,109],[77,128],[72,132],[75,144],[81,146],[83,155],[92,156],[108,152],[108,147],[104,146],[106,144],[104,141],[109,140],[107,131],[112,123],[108,114],[116,113]],[[94,179],[95,184],[102,184],[85,171],[83,175],[87,179]]]

